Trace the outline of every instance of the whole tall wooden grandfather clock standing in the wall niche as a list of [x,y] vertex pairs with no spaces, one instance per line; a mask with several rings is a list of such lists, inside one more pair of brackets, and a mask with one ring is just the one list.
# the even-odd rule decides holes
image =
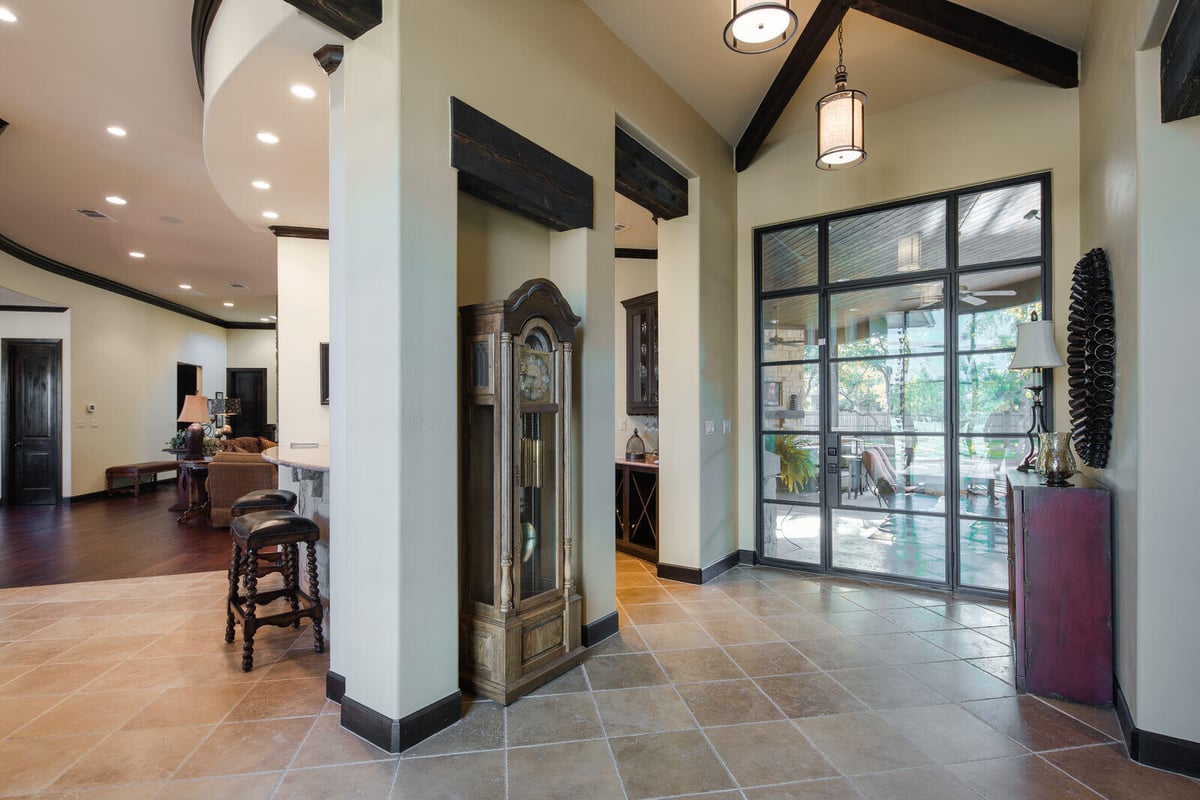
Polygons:
[[461,676],[508,704],[583,655],[569,470],[580,318],[545,278],[460,317]]

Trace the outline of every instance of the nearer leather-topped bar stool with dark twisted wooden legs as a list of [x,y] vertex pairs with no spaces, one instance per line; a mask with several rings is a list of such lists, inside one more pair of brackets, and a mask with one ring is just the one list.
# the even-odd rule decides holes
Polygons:
[[[234,519],[230,534],[233,555],[229,559],[226,642],[233,642],[234,625],[241,622],[242,672],[250,672],[254,667],[254,632],[264,625],[299,627],[301,619],[311,619],[313,650],[324,652],[325,637],[322,633],[324,609],[320,604],[316,551],[320,528],[317,523],[290,511],[254,511]],[[300,542],[305,543],[307,553],[307,593],[300,588]],[[280,589],[258,591],[258,551],[264,547],[278,547],[287,554],[283,558],[283,587]],[[245,595],[240,593],[239,585],[242,577],[245,577]],[[258,615],[259,606],[266,606],[280,597],[288,600],[292,607],[289,610]]]

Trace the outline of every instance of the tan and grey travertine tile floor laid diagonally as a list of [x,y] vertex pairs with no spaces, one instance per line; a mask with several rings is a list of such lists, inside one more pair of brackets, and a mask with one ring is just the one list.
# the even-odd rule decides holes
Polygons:
[[1006,609],[618,557],[622,631],[403,757],[338,727],[307,628],[223,640],[224,575],[0,591],[0,796],[1200,798],[1114,714],[1020,696]]

